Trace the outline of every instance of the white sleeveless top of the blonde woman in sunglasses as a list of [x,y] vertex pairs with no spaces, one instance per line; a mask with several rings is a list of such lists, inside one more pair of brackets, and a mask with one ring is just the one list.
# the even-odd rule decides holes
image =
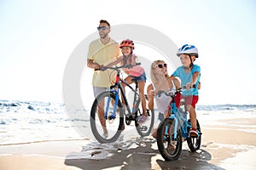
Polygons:
[[[152,84],[152,85],[154,88],[154,84]],[[173,90],[176,90],[176,87],[174,85],[174,82],[172,81],[171,91],[173,91]],[[154,91],[155,91],[155,88],[154,88]],[[167,108],[170,105],[170,102],[172,100],[171,96],[166,96],[166,94],[161,94],[160,97],[158,95],[155,95],[154,99],[155,99],[155,104],[160,113],[165,113],[165,111],[167,110]]]

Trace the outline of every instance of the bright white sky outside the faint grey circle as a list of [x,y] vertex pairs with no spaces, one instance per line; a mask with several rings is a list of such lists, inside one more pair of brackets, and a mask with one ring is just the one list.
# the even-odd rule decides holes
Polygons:
[[0,99],[61,102],[67,59],[104,19],[152,27],[178,47],[194,44],[199,105],[256,104],[255,9],[253,0],[1,0]]

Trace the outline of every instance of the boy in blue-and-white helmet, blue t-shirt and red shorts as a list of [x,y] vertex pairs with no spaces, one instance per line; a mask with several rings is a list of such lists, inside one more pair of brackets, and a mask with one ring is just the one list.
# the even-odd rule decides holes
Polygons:
[[201,68],[199,65],[194,65],[194,61],[198,58],[198,50],[193,45],[185,44],[182,48],[178,49],[177,56],[180,58],[182,66],[173,72],[171,78],[179,77],[181,86],[186,86],[186,90],[183,90],[180,98],[185,99],[186,109],[189,111],[191,122],[189,134],[191,137],[197,137],[195,104],[198,102],[198,84],[201,76]]

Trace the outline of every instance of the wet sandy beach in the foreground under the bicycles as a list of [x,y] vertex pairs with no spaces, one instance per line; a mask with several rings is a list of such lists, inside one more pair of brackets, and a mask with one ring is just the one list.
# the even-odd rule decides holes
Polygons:
[[107,159],[97,159],[97,155],[104,154],[101,149],[108,148],[108,144],[98,144],[87,148],[88,157],[78,159],[78,154],[91,143],[89,139],[80,139],[2,144],[0,169],[255,169],[256,118],[219,122],[224,122],[224,125],[205,122],[201,126],[201,150],[191,153],[184,142],[182,155],[177,161],[164,161],[152,137],[127,141],[124,138],[123,144],[136,146],[123,150],[122,145],[116,144],[115,148],[105,149],[108,150]]

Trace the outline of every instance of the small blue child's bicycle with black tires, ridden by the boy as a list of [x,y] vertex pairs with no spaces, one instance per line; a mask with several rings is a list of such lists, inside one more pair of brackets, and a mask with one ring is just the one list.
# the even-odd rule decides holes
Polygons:
[[176,91],[166,93],[165,91],[159,91],[157,95],[166,94],[172,97],[171,116],[167,117],[163,122],[160,123],[157,129],[157,145],[161,156],[166,161],[177,160],[181,154],[183,139],[187,140],[189,149],[192,152],[199,150],[201,146],[201,127],[196,120],[197,137],[189,136],[189,129],[191,128],[190,120],[187,119],[189,114],[184,105],[184,101],[181,100],[180,108],[178,109],[175,102],[175,96],[177,93],[182,92],[185,89],[179,88]]

